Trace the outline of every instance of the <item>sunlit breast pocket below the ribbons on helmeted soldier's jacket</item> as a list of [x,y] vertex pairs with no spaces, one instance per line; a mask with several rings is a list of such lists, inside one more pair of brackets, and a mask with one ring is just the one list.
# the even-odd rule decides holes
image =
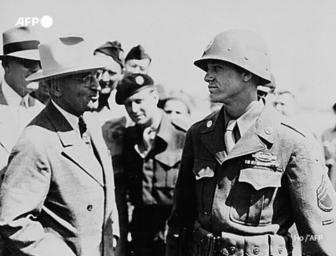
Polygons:
[[233,187],[230,219],[244,225],[269,225],[274,217],[274,198],[281,187],[281,171],[245,168]]

